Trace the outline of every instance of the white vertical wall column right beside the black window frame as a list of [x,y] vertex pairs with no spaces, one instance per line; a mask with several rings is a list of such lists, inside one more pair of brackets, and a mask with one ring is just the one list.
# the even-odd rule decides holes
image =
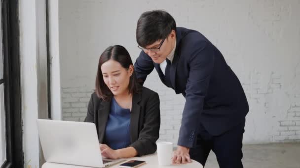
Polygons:
[[24,168],[39,167],[38,22],[36,0],[19,2]]

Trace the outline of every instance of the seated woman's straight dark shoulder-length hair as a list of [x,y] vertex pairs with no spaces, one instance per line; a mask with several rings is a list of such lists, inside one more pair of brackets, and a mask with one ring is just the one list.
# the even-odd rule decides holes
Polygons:
[[[108,60],[113,59],[119,62],[123,68],[128,69],[130,65],[133,65],[131,57],[127,50],[120,45],[110,46],[101,54],[98,63],[98,71],[96,77],[96,89],[95,92],[99,98],[104,101],[108,101],[112,98],[112,91],[104,83],[101,66]],[[141,86],[137,83],[135,73],[133,72],[129,80],[129,93],[139,93]]]

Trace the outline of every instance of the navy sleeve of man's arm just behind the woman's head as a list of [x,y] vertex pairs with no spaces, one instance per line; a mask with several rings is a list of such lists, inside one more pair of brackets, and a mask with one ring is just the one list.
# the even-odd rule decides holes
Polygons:
[[146,81],[147,75],[149,75],[154,69],[154,65],[150,56],[141,51],[140,56],[137,58],[134,64],[134,70],[138,82],[143,85]]

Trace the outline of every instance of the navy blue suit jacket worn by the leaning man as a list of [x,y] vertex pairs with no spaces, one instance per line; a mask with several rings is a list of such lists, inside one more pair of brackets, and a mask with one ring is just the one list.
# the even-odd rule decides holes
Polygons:
[[[137,78],[144,83],[154,68],[166,84],[159,64],[142,51],[135,63]],[[168,87],[186,98],[178,145],[195,145],[200,122],[217,136],[245,121],[249,106],[238,78],[221,52],[200,32],[176,29],[170,80]]]

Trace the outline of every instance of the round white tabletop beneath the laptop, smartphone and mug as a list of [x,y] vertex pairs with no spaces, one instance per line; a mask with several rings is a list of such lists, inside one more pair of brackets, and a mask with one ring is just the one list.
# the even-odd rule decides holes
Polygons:
[[[170,165],[170,166],[159,166],[157,161],[157,154],[146,155],[143,157],[134,157],[134,158],[127,158],[126,161],[129,160],[140,160],[146,161],[146,164],[139,167],[139,168],[203,168],[200,163],[197,161],[192,160],[191,163],[185,165]],[[126,162],[124,161],[124,162]],[[118,163],[116,165],[110,166],[108,168],[119,168]],[[82,167],[82,166],[73,166],[73,165],[64,165],[64,164],[55,164],[55,163],[45,163],[42,168],[90,168],[90,167]]]

